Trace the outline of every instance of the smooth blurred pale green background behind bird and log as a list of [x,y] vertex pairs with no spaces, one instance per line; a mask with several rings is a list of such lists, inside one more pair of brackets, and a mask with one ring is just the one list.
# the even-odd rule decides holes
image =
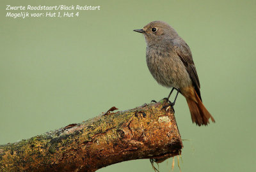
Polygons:
[[[162,99],[133,32],[163,20],[193,53],[205,106],[216,124],[192,124],[179,96],[182,171],[255,171],[256,1],[7,1],[1,4],[0,144],[79,123],[116,106]],[[73,18],[6,18],[6,4],[92,5]],[[45,12],[45,11],[44,11]],[[170,171],[172,159],[159,164]],[[99,170],[153,171],[148,159]],[[179,171],[177,163],[175,170]]]

